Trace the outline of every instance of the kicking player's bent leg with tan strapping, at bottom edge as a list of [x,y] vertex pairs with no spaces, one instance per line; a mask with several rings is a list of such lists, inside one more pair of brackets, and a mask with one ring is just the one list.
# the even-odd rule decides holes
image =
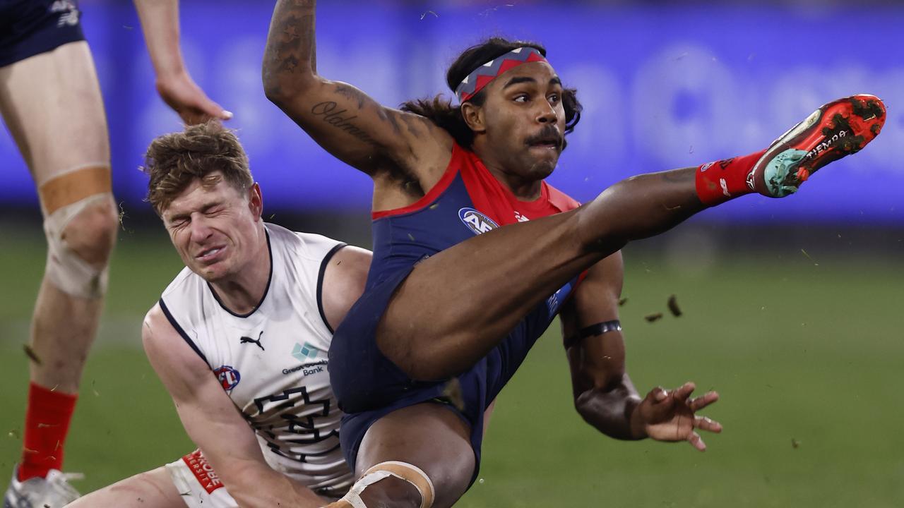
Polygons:
[[[465,494],[474,474],[469,435],[466,423],[441,404],[426,402],[395,410],[367,430],[358,448],[355,475],[360,478],[372,466],[388,461],[416,466],[433,484],[432,506],[446,508]],[[395,477],[367,486],[361,499],[374,507],[418,508],[421,503],[418,490]],[[330,504],[339,505],[342,502]]]

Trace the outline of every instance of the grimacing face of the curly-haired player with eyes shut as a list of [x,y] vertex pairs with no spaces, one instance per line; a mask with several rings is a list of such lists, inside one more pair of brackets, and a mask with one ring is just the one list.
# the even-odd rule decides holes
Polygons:
[[241,193],[222,177],[195,179],[161,214],[185,266],[208,282],[238,273],[257,251],[262,209],[255,183]]

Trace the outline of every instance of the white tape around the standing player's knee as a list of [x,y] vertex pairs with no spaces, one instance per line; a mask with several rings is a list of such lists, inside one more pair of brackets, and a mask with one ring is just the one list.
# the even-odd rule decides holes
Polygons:
[[111,193],[99,193],[79,202],[63,206],[44,218],[44,235],[47,237],[47,279],[63,293],[84,298],[99,298],[107,292],[108,268],[96,268],[81,259],[66,244],[62,233],[72,218],[90,205],[104,202]]

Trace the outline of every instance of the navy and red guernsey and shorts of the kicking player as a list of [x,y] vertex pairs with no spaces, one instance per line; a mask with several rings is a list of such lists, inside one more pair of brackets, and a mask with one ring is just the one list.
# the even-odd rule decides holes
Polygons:
[[578,206],[545,182],[539,199],[519,201],[476,154],[455,145],[446,173],[423,198],[404,208],[373,213],[373,260],[367,285],[336,329],[329,351],[330,381],[339,407],[346,413],[340,437],[351,466],[374,421],[395,409],[433,400],[448,403],[471,426],[471,445],[479,467],[486,406],[550,325],[577,279],[536,306],[494,350],[457,376],[461,400],[444,395],[448,381],[453,380],[413,381],[386,358],[375,340],[377,323],[396,287],[420,260],[476,234]]

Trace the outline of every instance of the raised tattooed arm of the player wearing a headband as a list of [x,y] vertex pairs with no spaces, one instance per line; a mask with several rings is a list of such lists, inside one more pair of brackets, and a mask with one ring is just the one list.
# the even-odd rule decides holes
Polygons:
[[315,1],[279,0],[263,62],[268,99],[377,183],[408,174],[421,188],[432,186],[451,156],[451,136],[427,118],[384,108],[351,85],[318,76],[315,53]]

